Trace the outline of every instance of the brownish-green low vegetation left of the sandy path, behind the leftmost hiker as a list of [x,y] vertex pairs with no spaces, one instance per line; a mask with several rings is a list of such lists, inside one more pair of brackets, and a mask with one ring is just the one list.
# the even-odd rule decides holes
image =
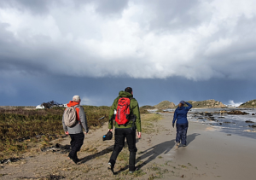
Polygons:
[[[90,129],[101,127],[108,121],[110,107],[83,107]],[[64,108],[0,109],[0,160],[24,153],[28,142],[41,142],[45,147],[51,140],[61,137],[64,133],[63,112]]]

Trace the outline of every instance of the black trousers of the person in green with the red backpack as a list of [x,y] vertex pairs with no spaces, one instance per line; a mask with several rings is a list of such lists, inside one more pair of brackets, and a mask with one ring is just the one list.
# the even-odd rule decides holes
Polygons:
[[114,146],[113,146],[113,153],[110,157],[109,162],[114,165],[115,161],[125,146],[125,138],[126,142],[128,143],[128,148],[130,151],[130,158],[129,158],[129,171],[135,171],[135,160],[136,160],[136,130],[134,128],[115,128],[114,131]]

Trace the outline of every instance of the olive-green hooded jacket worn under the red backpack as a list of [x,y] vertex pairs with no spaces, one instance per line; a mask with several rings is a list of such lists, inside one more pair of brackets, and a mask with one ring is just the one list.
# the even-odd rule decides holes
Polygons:
[[[135,98],[133,98],[131,93],[125,92],[123,90],[119,91],[119,96],[117,98],[115,98],[115,100],[113,101],[113,104],[112,104],[112,107],[111,107],[111,110],[109,113],[108,129],[113,129],[113,114],[114,114],[114,110],[117,109],[117,105],[118,105],[118,101],[119,101],[120,97],[128,97],[131,99],[131,102],[130,102],[131,113],[136,116],[135,125],[137,127],[137,131],[141,132],[142,131],[141,115],[140,115],[140,109],[139,109],[137,100]],[[132,124],[133,124],[133,122],[130,120],[127,125],[118,125],[117,123],[114,123],[114,127],[115,128],[131,128]]]

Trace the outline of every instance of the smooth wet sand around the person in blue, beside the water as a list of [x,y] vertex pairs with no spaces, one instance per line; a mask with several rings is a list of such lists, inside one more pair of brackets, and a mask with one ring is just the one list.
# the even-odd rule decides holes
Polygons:
[[[167,125],[172,114],[165,114],[160,125]],[[171,126],[171,121],[169,122]],[[171,128],[171,131],[175,131]],[[163,133],[161,133],[163,134]],[[231,135],[231,136],[230,136]],[[160,137],[160,138],[159,138]],[[183,174],[187,179],[255,179],[256,141],[255,139],[225,134],[211,126],[189,123],[188,146],[173,148],[175,133],[171,136],[155,136],[153,146],[170,144],[164,160],[172,160],[177,165],[184,165]],[[168,142],[169,141],[169,142]],[[165,146],[159,147],[159,149]],[[191,168],[192,165],[195,167]],[[181,175],[182,176],[182,175]],[[165,179],[169,179],[166,177]],[[175,179],[175,178],[174,178]],[[177,178],[178,179],[178,178]]]

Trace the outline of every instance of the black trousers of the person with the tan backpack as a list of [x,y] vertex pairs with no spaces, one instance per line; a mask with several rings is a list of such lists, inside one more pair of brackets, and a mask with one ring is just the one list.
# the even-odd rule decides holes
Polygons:
[[69,134],[69,136],[71,137],[71,142],[70,142],[71,151],[69,153],[69,156],[77,160],[78,159],[77,153],[84,143],[84,133],[81,132],[79,134]]

